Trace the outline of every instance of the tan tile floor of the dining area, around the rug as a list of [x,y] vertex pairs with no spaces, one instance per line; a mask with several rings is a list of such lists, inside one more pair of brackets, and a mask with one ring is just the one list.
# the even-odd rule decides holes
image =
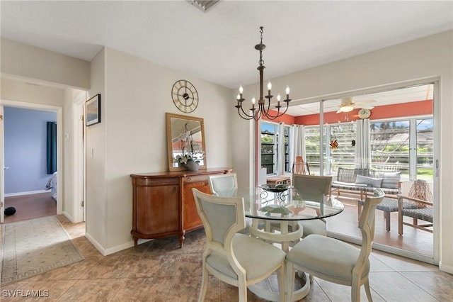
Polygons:
[[[204,231],[152,240],[104,257],[84,237],[84,223],[58,216],[85,260],[0,288],[1,301],[197,301]],[[373,251],[374,301],[452,301],[453,275],[433,265]],[[267,282],[267,281],[266,281]],[[275,285],[269,282],[263,286]],[[11,298],[8,291],[47,291],[48,297]],[[362,300],[366,301],[362,287]],[[210,279],[206,301],[237,301],[234,286]],[[263,301],[248,292],[248,301]],[[350,287],[316,279],[303,301],[350,301]]]

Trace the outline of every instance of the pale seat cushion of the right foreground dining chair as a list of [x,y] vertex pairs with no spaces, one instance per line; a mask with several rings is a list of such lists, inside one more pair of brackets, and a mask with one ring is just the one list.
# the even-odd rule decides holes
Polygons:
[[[309,235],[294,245],[292,250],[287,253],[286,259],[314,272],[352,281],[352,269],[354,269],[359,255],[360,250],[348,243],[331,237]],[[368,272],[369,259],[365,264],[363,276],[366,276]]]

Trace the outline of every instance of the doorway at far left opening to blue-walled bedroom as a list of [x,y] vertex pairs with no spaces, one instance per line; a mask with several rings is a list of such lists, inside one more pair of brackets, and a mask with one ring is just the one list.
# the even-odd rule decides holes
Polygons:
[[57,112],[4,106],[5,223],[57,214]]

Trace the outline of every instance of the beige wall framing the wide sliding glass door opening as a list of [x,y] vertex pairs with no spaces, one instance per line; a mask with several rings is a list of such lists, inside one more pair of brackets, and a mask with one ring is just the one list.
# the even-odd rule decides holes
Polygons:
[[[435,242],[440,247],[440,268],[453,273],[453,236],[450,231],[453,230],[453,31],[273,79],[273,90],[284,91],[288,84],[292,99],[319,101],[328,95],[377,91],[383,87],[397,87],[405,82],[423,79],[440,79],[440,95],[435,104],[435,129],[440,135],[440,142],[435,145],[437,159],[440,160],[440,177],[436,179],[440,188],[435,191],[435,202],[437,217],[440,219],[436,224],[438,228]],[[258,86],[244,87],[244,91],[256,94]],[[232,91],[231,100],[236,98],[236,94],[237,91]],[[251,96],[246,98],[250,99]],[[231,106],[230,111],[233,115],[234,133],[237,135],[234,145],[246,146],[252,140],[247,131],[241,131],[247,128],[247,123],[238,117],[236,108]],[[233,168],[241,175],[241,179],[247,179],[251,163],[243,162],[243,153],[243,148],[234,148]]]

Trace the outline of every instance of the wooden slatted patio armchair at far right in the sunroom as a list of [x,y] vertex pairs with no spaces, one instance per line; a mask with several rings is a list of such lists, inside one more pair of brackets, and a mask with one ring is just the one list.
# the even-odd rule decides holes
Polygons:
[[[428,182],[424,180],[414,181],[408,195],[398,195],[398,234],[403,235],[403,225],[432,233],[432,193]],[[418,208],[404,208],[405,199],[417,204]],[[404,216],[413,218],[413,223],[404,221]],[[424,220],[426,223],[419,224],[418,220]]]

